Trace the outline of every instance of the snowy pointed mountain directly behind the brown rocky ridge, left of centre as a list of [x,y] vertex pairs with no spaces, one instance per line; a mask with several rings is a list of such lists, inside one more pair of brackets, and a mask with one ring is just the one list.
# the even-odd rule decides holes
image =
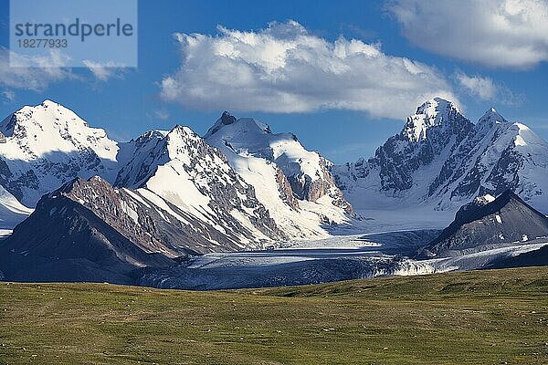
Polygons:
[[[133,158],[121,168],[115,184],[135,189],[159,206],[169,203],[213,227],[212,245],[258,248],[286,237],[253,187],[189,128],[148,132],[131,143]],[[174,216],[188,224],[187,218]]]

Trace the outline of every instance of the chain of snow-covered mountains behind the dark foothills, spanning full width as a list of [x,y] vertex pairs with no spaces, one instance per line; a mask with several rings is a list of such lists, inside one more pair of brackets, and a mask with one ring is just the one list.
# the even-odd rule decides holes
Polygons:
[[185,237],[201,235],[194,239],[203,252],[326,236],[331,224],[357,223],[353,206],[375,218],[358,225],[380,228],[369,213],[384,212],[385,229],[441,227],[475,196],[506,189],[548,211],[548,144],[495,110],[473,124],[444,99],[417,108],[373,158],[343,166],[293,134],[227,112],[204,139],[176,126],[121,143],[46,100],[16,111],[0,130],[0,228],[13,228],[44,193],[94,175],[154,211],[173,212]]

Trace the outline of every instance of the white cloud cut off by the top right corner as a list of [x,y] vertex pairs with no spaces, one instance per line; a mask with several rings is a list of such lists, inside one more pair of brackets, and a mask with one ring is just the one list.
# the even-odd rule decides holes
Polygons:
[[403,35],[428,51],[489,67],[548,60],[546,0],[395,0]]

